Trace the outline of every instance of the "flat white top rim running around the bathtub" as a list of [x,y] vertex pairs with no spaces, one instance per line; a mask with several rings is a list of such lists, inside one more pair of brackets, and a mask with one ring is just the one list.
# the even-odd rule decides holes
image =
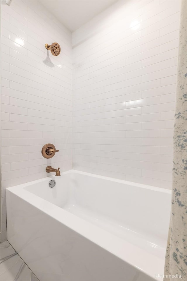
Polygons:
[[[113,179],[110,177],[104,177],[100,175],[95,175],[87,172],[81,172],[77,170],[69,170],[67,172],[63,172],[63,174],[69,173],[78,173],[83,174],[91,177],[97,177],[113,182],[118,182],[122,184],[128,184],[131,186],[136,186],[140,188],[151,189],[158,192],[164,192],[171,194],[171,191],[168,189],[162,189],[154,186],[147,186],[144,184],[133,183],[130,181],[124,181],[120,179]],[[101,246],[106,251],[109,251],[113,255],[117,256],[124,262],[134,266],[139,271],[147,274],[148,276],[155,279],[155,274],[159,273],[162,274],[164,271],[164,261],[157,256],[154,256],[147,251],[135,246],[114,234],[101,229],[100,227],[93,225],[90,222],[85,221],[84,219],[69,213],[68,211],[64,210],[63,208],[58,207],[57,205],[31,193],[30,191],[24,189],[26,186],[31,186],[33,184],[39,182],[49,182],[50,179],[55,179],[55,176],[49,176],[42,179],[38,179],[35,181],[30,181],[25,184],[20,184],[17,186],[12,186],[7,188],[8,193],[13,193],[15,196],[20,197],[22,200],[26,201],[27,203],[33,205],[35,208],[41,210],[42,212],[46,213],[47,215],[53,217],[53,219],[57,220],[58,222],[64,224],[66,227],[72,229],[73,231],[77,232],[82,237],[92,241],[93,243]],[[7,205],[8,207],[8,205]],[[11,243],[11,237],[8,239]],[[111,243],[112,241],[112,243]],[[133,253],[136,253],[133,255]],[[146,262],[145,262],[146,260]],[[144,262],[143,262],[144,261]],[[157,280],[162,280],[158,279]]]

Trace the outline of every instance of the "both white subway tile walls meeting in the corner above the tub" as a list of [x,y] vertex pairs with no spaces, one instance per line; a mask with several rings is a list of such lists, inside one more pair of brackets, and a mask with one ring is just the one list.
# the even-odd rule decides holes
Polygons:
[[180,1],[117,1],[73,43],[39,1],[1,8],[2,240],[6,187],[47,164],[171,188]]

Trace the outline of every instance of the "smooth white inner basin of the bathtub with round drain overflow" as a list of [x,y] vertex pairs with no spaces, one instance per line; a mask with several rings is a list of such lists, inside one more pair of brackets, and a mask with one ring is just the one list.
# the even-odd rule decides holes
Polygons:
[[53,188],[46,180],[24,189],[164,258],[170,191],[75,171],[52,178]]

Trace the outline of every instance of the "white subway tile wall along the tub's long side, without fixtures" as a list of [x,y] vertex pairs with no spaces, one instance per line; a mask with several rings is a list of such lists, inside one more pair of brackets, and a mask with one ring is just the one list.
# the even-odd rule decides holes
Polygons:
[[171,187],[180,1],[118,1],[73,33],[73,168]]

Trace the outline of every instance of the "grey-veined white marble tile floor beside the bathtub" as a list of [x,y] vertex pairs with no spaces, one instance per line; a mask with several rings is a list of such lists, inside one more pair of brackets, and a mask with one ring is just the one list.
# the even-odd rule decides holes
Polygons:
[[0,280],[39,281],[8,241],[0,244]]

